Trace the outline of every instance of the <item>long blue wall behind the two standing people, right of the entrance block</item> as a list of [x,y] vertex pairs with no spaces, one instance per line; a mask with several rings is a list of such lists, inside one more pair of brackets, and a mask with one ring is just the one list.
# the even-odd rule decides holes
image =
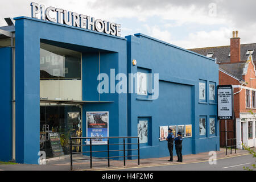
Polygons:
[[[208,130],[209,117],[217,114],[217,100],[210,103],[208,93],[210,81],[218,85],[218,65],[214,60],[143,34],[126,38],[127,72],[137,73],[144,68],[153,74],[159,73],[157,100],[140,99],[142,96],[137,94],[128,96],[129,135],[137,135],[138,117],[151,117],[152,133],[148,136],[152,143],[141,147],[141,158],[169,155],[167,142],[159,141],[160,126],[192,124],[192,137],[183,140],[183,154],[219,150],[217,118],[216,134],[209,135]],[[132,65],[133,59],[137,60],[135,66]],[[200,79],[207,82],[205,102],[199,102]],[[199,135],[200,115],[207,116],[207,135],[204,138]]]

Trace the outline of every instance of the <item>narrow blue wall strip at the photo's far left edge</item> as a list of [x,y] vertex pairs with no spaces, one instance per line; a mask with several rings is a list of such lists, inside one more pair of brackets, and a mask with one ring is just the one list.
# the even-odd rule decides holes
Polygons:
[[0,85],[1,85],[1,105],[2,113],[0,119],[0,161],[11,160],[12,151],[12,122],[11,122],[11,48],[0,48]]

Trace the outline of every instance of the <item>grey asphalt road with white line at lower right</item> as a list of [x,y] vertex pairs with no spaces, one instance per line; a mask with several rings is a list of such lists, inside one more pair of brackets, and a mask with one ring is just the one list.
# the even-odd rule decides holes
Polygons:
[[[241,171],[243,166],[251,167],[255,164],[255,158],[252,155],[234,156],[231,158],[217,159],[217,164],[210,165],[208,162],[197,163],[179,163],[164,166],[120,168],[120,171]],[[117,170],[117,171],[118,171]]]

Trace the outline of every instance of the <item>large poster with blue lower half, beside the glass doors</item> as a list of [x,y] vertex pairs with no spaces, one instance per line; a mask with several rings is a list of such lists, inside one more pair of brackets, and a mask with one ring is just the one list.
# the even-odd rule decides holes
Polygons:
[[[109,137],[109,112],[86,112],[87,137]],[[88,139],[89,143],[90,140]],[[92,139],[92,144],[107,144],[108,139]]]

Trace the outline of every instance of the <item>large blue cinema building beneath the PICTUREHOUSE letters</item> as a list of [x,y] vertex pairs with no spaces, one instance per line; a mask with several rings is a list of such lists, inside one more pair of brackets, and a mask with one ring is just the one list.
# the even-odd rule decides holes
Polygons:
[[220,150],[214,59],[143,34],[122,38],[26,16],[0,32],[1,161],[70,154],[70,137],[91,137],[93,113],[109,137],[139,136],[142,159],[169,156],[161,140],[168,126],[183,131],[183,155]]

